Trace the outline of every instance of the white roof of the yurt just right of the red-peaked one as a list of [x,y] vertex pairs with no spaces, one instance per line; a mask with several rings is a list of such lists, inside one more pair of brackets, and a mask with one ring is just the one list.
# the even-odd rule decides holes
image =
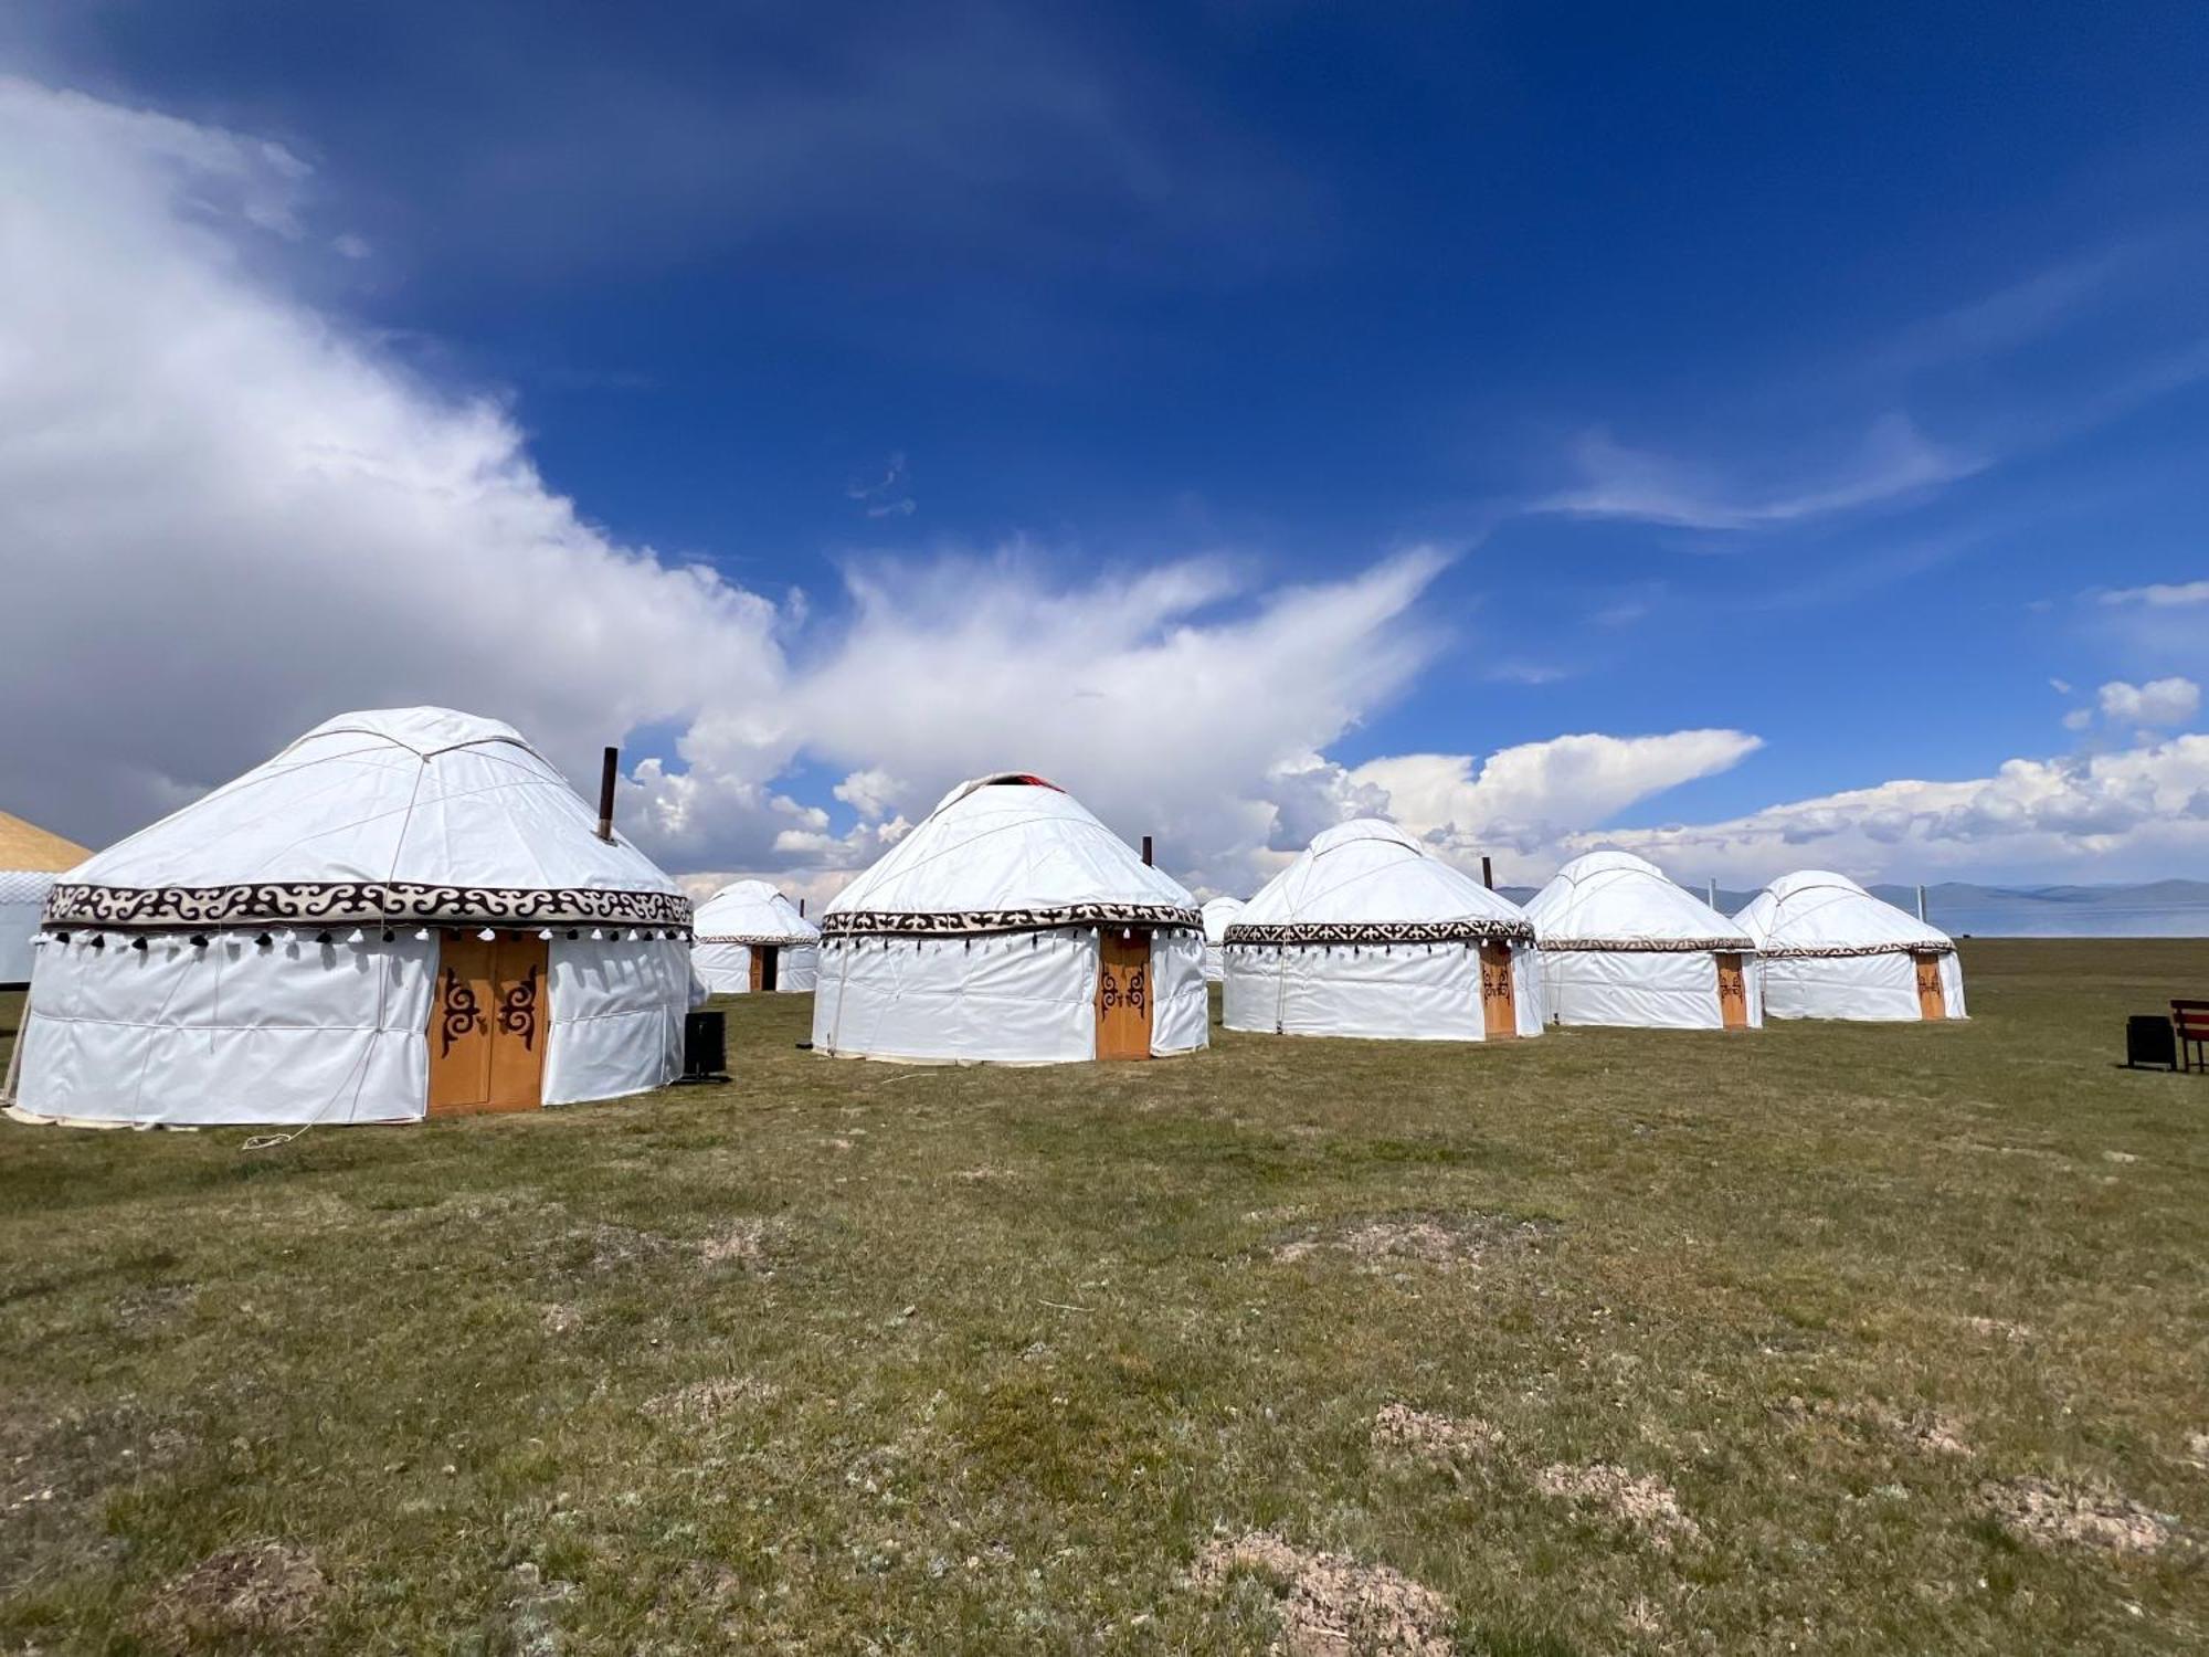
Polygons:
[[1531,939],[1533,926],[1392,822],[1359,817],[1317,835],[1266,882],[1228,943],[1438,943]]

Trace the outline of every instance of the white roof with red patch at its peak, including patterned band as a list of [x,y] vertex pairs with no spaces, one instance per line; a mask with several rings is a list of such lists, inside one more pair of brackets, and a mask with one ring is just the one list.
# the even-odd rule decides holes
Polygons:
[[822,932],[1202,926],[1197,901],[1071,793],[1025,771],[961,782],[822,910]]

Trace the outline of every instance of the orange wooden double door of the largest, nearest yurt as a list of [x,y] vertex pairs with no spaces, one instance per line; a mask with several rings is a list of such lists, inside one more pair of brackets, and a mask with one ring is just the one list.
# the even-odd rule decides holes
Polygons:
[[446,932],[429,1007],[429,1114],[537,1109],[550,1027],[543,939]]

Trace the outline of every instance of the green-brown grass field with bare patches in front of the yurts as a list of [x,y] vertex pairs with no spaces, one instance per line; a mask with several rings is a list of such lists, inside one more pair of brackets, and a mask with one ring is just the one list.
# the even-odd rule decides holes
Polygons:
[[[2209,1642],[2202,943],[1975,1019],[0,1122],[0,1648]],[[0,1005],[0,1030],[15,1023]],[[1334,1642],[1345,1635],[1345,1642]]]

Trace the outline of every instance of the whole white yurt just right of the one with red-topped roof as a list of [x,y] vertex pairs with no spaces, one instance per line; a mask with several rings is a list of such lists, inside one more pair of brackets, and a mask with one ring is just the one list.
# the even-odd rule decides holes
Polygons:
[[1540,1036],[1533,924],[1396,824],[1345,822],[1228,928],[1224,1023],[1286,1036]]

